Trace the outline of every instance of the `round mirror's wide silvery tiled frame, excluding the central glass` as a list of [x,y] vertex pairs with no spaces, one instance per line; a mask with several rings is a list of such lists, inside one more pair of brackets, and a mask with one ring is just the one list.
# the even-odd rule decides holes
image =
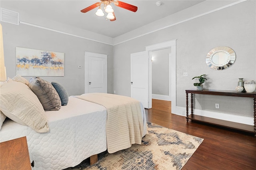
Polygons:
[[[214,54],[216,54],[218,52],[224,52],[228,56],[228,59],[224,63],[215,64],[212,61],[212,57],[214,56]],[[229,67],[231,67],[234,64],[234,62],[236,60],[236,53],[230,47],[225,47],[225,46],[215,47],[208,52],[205,60],[206,60],[206,64],[211,69],[224,70],[224,69],[228,69]]]

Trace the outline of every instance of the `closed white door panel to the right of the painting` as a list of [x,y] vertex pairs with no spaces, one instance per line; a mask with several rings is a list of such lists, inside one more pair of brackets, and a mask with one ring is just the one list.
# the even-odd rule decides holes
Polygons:
[[107,93],[107,55],[86,52],[85,93]]

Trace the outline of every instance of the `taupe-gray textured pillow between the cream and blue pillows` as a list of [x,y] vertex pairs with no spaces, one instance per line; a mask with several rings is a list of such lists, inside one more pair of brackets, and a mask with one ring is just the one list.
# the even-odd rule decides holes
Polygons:
[[36,94],[44,110],[58,111],[60,109],[60,96],[51,83],[40,77],[31,77],[28,87]]

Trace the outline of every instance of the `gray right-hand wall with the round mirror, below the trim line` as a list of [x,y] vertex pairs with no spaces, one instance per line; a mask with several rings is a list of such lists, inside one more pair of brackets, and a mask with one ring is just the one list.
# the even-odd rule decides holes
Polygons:
[[[235,90],[238,77],[256,79],[256,5],[245,1],[200,16],[193,20],[138,37],[114,46],[114,90],[130,96],[130,53],[145,51],[145,46],[177,39],[176,105],[186,106],[186,89],[195,88],[192,77],[206,74],[206,89]],[[205,63],[210,49],[228,46],[236,52],[236,61],[224,71],[214,71]],[[188,77],[183,77],[188,72]],[[215,104],[220,109],[215,109]],[[196,95],[195,108],[252,117],[252,99]]]

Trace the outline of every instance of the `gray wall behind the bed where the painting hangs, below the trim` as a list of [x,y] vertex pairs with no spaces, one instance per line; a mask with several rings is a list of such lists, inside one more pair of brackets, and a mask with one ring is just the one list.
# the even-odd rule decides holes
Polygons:
[[[62,84],[68,95],[84,93],[84,52],[108,55],[108,93],[113,93],[113,46],[24,24],[1,22],[7,77],[16,75],[16,47],[64,53],[64,77],[42,77]],[[78,69],[82,65],[82,69]],[[30,77],[25,77],[29,79]]]

